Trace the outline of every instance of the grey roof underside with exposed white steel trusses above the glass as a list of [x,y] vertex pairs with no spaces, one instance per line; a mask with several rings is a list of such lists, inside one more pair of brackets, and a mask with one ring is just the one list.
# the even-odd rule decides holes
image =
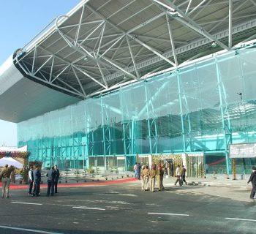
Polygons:
[[86,99],[255,34],[256,0],[81,1],[14,62],[27,78]]

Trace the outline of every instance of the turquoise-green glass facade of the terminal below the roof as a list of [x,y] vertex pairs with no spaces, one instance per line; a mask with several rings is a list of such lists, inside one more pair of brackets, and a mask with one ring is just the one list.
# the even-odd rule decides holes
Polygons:
[[233,50],[20,122],[18,145],[60,167],[203,151],[225,156],[230,171],[229,144],[256,142],[255,57],[253,47]]

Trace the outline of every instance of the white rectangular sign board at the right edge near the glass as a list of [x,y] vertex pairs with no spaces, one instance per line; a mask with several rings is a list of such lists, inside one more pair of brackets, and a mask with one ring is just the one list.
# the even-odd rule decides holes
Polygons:
[[230,158],[255,158],[256,143],[230,145]]

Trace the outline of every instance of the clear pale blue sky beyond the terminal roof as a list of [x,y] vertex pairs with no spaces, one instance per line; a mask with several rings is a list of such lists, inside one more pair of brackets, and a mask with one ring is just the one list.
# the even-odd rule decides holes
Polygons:
[[[66,14],[79,2],[80,0],[1,1],[0,66],[16,49],[22,48],[41,31],[50,20]],[[0,146],[3,144],[17,146],[17,129],[16,124],[0,120]]]

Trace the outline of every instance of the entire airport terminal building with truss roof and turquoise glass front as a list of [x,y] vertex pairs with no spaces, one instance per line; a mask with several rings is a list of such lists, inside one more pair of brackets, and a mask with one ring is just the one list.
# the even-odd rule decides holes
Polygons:
[[181,156],[227,174],[236,158],[249,173],[255,12],[255,1],[81,1],[1,65],[0,118],[45,167]]

